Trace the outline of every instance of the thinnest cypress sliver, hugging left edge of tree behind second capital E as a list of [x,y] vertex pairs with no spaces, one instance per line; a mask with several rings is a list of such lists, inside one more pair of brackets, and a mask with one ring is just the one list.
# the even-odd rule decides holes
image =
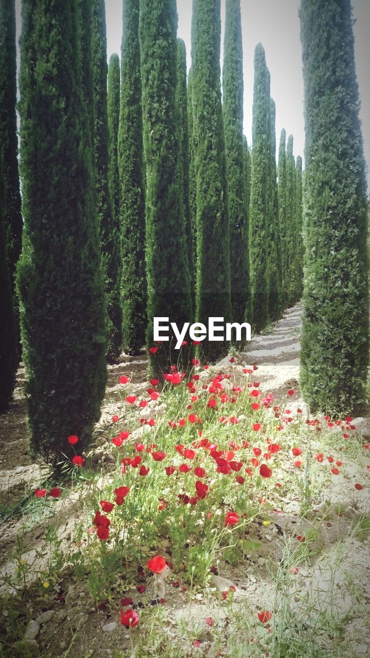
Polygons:
[[[195,141],[193,127],[192,69],[188,73],[188,132],[189,132],[189,212],[192,234],[192,257],[190,259],[190,280],[193,299],[196,299],[196,284],[198,270],[197,253],[197,181],[195,163]],[[195,301],[193,308],[195,307]]]

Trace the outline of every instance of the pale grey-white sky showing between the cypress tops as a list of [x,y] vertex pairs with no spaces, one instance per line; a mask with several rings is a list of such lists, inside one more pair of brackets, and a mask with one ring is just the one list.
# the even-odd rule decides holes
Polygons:
[[[244,51],[244,133],[251,143],[253,103],[253,53],[261,41],[271,73],[271,96],[277,107],[277,148],[280,131],[294,136],[294,155],[304,157],[302,49],[300,43],[300,0],[241,0]],[[369,35],[370,0],[352,0],[354,8],[356,71],[361,97],[365,158],[370,163]],[[122,37],[122,0],[105,0],[107,56],[118,53]],[[184,39],[190,66],[192,0],[177,0],[178,36]],[[16,0],[17,32],[20,31],[20,0]],[[225,0],[221,0],[221,66]]]

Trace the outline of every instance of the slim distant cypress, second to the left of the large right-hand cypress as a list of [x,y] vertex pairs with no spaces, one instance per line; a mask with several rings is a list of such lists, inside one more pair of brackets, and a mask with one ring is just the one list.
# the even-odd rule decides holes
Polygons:
[[293,155],[293,136],[286,143],[286,278],[285,293],[288,307],[296,302],[297,234],[296,234],[296,163]]

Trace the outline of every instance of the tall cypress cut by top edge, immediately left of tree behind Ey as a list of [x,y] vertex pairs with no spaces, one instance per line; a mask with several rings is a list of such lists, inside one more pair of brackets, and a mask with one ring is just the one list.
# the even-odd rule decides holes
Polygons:
[[132,354],[145,345],[147,329],[139,9],[140,0],[124,0],[119,120],[122,337]]

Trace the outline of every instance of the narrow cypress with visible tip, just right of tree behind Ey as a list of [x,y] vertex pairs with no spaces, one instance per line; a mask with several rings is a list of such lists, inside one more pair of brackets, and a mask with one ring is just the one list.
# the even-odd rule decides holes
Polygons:
[[180,175],[182,178],[182,205],[184,207],[184,220],[186,244],[188,247],[188,261],[190,282],[192,284],[192,300],[194,304],[194,263],[193,263],[193,236],[190,218],[190,179],[189,179],[189,126],[188,126],[188,97],[186,92],[186,47],[182,39],[177,39],[177,83],[176,107],[178,111],[178,130],[180,131]]

